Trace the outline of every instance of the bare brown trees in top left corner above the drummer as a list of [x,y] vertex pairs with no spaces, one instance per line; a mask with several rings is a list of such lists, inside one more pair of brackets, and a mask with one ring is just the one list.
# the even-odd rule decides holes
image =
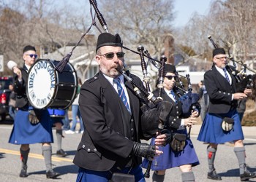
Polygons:
[[15,60],[21,66],[20,55],[26,44],[35,45],[42,54],[43,50],[75,45],[88,22],[78,12],[65,1],[4,1],[0,4],[0,54],[4,54],[4,62]]

